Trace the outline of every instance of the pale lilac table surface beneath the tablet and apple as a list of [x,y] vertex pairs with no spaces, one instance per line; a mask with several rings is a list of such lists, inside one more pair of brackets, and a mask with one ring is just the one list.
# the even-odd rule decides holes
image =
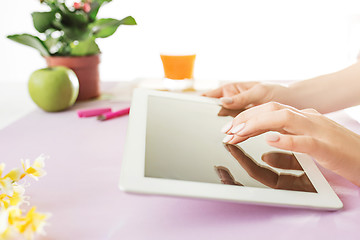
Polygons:
[[[128,117],[80,119],[82,108],[128,106],[123,100],[76,104],[68,111],[35,108],[0,130],[7,169],[21,158],[46,161],[47,176],[27,188],[30,202],[50,212],[47,235],[37,239],[359,239],[360,188],[321,169],[344,203],[326,212],[210,200],[127,194],[118,189]],[[360,132],[344,112],[331,118]]]

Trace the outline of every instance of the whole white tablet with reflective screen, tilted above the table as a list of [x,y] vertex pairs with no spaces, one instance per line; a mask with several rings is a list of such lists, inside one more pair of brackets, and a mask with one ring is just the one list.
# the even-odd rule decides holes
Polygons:
[[313,159],[269,146],[264,135],[224,144],[239,112],[218,99],[134,91],[120,189],[273,206],[337,210],[342,202]]

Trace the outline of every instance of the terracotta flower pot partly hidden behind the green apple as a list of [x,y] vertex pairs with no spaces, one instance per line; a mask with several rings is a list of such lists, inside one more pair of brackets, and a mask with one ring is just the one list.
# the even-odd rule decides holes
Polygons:
[[45,57],[48,67],[65,66],[72,69],[79,79],[77,100],[88,100],[100,95],[99,63],[100,56],[49,56]]

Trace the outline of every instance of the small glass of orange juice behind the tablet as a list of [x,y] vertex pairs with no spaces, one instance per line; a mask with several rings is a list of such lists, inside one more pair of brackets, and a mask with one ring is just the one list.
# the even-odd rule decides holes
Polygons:
[[164,67],[164,87],[171,91],[192,89],[195,54],[160,54]]

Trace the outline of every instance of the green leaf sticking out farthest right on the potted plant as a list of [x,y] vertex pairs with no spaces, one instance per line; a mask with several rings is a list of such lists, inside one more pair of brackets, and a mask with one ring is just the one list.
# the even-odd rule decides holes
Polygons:
[[128,16],[122,20],[101,18],[91,24],[90,28],[94,37],[106,38],[113,35],[120,25],[136,25],[136,21],[131,16]]

